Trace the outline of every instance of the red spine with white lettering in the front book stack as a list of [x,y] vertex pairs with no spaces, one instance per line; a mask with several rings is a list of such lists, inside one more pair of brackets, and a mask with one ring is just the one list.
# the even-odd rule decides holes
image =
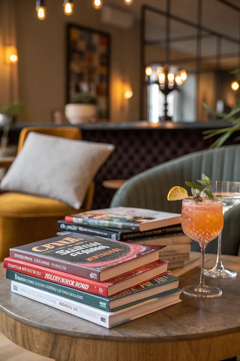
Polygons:
[[58,271],[49,269],[45,270],[44,267],[39,268],[37,265],[32,265],[30,263],[26,266],[25,264],[21,264],[21,261],[9,261],[5,259],[3,265],[4,268],[12,271],[18,271],[40,279],[50,280],[51,282],[75,288],[76,290],[87,291],[94,293],[95,295],[108,297],[108,285],[105,283],[99,283],[81,277],[76,279],[76,277],[72,277],[68,274],[63,277],[62,274],[58,273]]

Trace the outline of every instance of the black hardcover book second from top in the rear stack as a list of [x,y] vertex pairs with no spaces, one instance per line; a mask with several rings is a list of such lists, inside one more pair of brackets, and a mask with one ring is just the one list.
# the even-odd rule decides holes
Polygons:
[[99,236],[103,238],[111,238],[116,239],[118,241],[126,241],[128,239],[138,239],[138,238],[148,238],[148,237],[155,237],[155,236],[165,236],[167,234],[173,234],[182,232],[181,224],[168,226],[168,227],[161,227],[149,231],[128,231],[128,230],[119,230],[114,228],[104,228],[104,227],[92,227],[92,226],[85,226],[85,225],[77,225],[74,223],[69,223],[64,220],[58,221],[58,229],[61,231],[69,231],[69,232],[76,232],[82,234],[89,234],[92,236]]

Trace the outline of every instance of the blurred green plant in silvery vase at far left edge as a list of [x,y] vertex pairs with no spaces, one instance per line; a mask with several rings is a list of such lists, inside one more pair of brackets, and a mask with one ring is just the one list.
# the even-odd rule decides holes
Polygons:
[[11,103],[0,108],[0,127],[3,134],[0,138],[0,156],[14,156],[17,153],[17,145],[8,145],[8,133],[11,125],[20,114],[26,114],[26,106],[20,100],[14,100]]

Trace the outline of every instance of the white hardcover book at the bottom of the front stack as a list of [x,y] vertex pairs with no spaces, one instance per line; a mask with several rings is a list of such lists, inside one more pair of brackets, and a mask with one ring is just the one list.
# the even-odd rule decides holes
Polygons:
[[181,302],[179,299],[181,290],[178,290],[118,311],[108,312],[15,281],[11,282],[11,291],[45,305],[71,313],[87,321],[94,322],[97,325],[107,327],[108,329]]

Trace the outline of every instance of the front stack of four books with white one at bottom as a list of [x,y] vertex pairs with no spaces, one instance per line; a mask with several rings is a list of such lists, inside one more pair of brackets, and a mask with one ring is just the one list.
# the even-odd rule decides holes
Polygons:
[[4,267],[12,292],[110,328],[181,301],[164,247],[71,233],[10,249]]

